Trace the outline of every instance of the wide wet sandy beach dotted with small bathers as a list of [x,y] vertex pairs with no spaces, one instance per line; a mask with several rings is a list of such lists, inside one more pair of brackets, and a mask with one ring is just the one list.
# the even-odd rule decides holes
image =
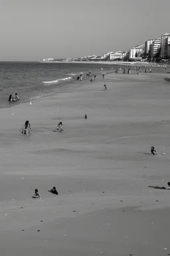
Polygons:
[[[170,190],[148,187],[170,181],[165,78],[110,73],[0,109],[1,255],[170,253]],[[59,121],[64,133],[54,132]],[[35,189],[41,199],[31,198]]]

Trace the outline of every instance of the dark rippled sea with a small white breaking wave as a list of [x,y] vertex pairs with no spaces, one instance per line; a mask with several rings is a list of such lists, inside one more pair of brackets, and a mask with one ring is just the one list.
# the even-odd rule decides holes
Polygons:
[[0,62],[0,107],[16,104],[8,102],[10,94],[18,93],[21,100],[17,103],[23,103],[77,86],[81,72],[85,75],[91,70],[95,74],[101,67],[103,71],[110,68],[90,63]]

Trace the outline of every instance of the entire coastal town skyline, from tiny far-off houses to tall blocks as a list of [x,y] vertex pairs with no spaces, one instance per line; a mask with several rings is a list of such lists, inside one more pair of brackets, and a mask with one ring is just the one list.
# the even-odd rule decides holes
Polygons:
[[165,33],[156,39],[148,39],[145,43],[131,47],[129,51],[110,51],[104,55],[88,55],[69,59],[43,59],[48,61],[143,61],[155,63],[170,62],[170,33]]

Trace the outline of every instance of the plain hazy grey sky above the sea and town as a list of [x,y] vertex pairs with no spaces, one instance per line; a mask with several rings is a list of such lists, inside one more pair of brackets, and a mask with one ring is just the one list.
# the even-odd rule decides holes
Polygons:
[[0,61],[128,50],[170,32],[170,0],[0,0]]

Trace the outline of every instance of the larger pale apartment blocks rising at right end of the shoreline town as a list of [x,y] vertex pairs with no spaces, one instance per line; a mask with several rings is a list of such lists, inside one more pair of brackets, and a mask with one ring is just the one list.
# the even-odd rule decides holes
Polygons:
[[170,59],[170,33],[165,33],[157,39],[149,39],[142,45],[137,45],[129,51],[114,51],[106,53],[102,59],[148,59],[155,61],[155,58]]

